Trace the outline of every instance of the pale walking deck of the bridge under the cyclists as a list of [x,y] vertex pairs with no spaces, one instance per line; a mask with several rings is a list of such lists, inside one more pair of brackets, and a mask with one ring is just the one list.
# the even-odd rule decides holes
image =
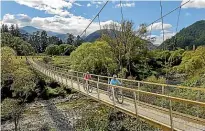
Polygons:
[[[53,78],[56,81],[61,82],[62,84],[71,87],[81,93],[91,96],[94,99],[100,100],[108,105],[114,106],[125,113],[132,114],[136,116],[134,101],[125,100],[123,104],[118,104],[117,102],[113,102],[110,100],[109,96],[105,91],[101,90],[98,99],[98,93],[93,91],[93,93],[87,93],[82,84],[78,84],[76,81],[71,81],[65,77],[62,77],[51,70],[48,70],[38,64],[36,64],[33,60],[29,60],[33,67],[47,75],[48,77]],[[129,99],[129,98],[128,98]],[[145,108],[146,107],[146,108]],[[158,125],[162,125],[162,127],[167,127],[167,129],[171,128],[170,123],[170,115],[169,112],[163,112],[158,109],[154,109],[148,106],[143,105],[142,103],[137,104],[137,113],[139,117],[142,117],[151,122],[157,123]],[[183,131],[204,131],[205,124],[189,121],[188,118],[184,119],[182,117],[173,116],[173,127],[174,130],[183,130]]]

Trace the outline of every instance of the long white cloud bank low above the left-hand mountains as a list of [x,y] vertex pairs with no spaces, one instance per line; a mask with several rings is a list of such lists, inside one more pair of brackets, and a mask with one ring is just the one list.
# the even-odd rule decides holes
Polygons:
[[[81,16],[71,16],[71,17],[62,17],[62,16],[53,16],[53,17],[34,17],[31,18],[31,21],[26,22],[22,21],[21,17],[27,17],[25,14],[17,14],[11,15],[6,14],[3,17],[2,23],[4,24],[17,24],[19,27],[23,26],[34,26],[36,28],[44,29],[46,31],[54,31],[58,33],[72,33],[74,35],[79,35],[82,31],[87,27],[90,23],[91,19],[86,19]],[[101,26],[103,27],[106,24],[112,23],[112,20],[101,22]],[[90,27],[86,31],[86,35],[99,30],[99,23],[93,22]]]

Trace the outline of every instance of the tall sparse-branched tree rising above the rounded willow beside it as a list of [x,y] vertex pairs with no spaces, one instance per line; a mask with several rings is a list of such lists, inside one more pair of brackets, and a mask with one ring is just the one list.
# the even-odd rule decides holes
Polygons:
[[[135,36],[133,23],[131,21],[123,21],[121,26],[117,23],[111,23],[104,28],[105,34],[103,34],[101,39],[105,40],[111,47],[112,52],[114,52],[119,71],[127,70],[128,74],[132,75],[132,60],[140,53],[140,50],[145,48],[144,42]],[[143,31],[142,34],[145,32]]]

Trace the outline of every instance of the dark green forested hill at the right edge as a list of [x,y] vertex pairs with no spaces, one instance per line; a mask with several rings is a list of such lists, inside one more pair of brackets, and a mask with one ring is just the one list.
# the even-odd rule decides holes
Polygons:
[[[176,37],[176,44],[174,39]],[[176,36],[164,41],[159,48],[166,47],[172,50],[174,47],[189,48],[192,46],[205,45],[205,20],[197,21],[194,24],[183,28]]]

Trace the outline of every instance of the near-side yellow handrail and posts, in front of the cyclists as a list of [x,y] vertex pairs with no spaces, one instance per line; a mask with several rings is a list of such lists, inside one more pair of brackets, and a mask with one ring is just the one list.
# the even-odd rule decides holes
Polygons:
[[[41,63],[42,64],[42,63]],[[71,86],[73,86],[73,78],[75,77],[75,78],[77,78],[77,82],[78,82],[78,87],[79,87],[79,79],[83,79],[83,77],[79,77],[78,76],[78,72],[76,72],[77,74],[77,76],[75,76],[75,74],[73,74],[73,73],[70,73],[70,74],[65,74],[65,73],[63,73],[63,72],[59,72],[58,70],[55,70],[55,68],[46,68],[46,66],[48,66],[48,65],[45,65],[44,64],[44,66],[39,66],[38,64],[36,64],[38,67],[37,68],[41,68],[41,69],[43,69],[44,71],[46,71],[46,70],[50,70],[51,72],[54,72],[53,73],[53,75],[55,76],[56,74],[58,74],[58,81],[59,82],[62,82],[63,81],[63,79],[65,79],[65,77],[66,78],[69,78],[69,77],[71,77],[71,78],[69,78],[69,79],[71,79]],[[61,81],[60,81],[60,79],[61,79]],[[74,80],[75,81],[75,80]],[[168,95],[163,95],[163,94],[157,94],[157,93],[152,93],[152,92],[147,92],[147,91],[142,91],[142,90],[138,90],[138,89],[133,89],[133,88],[127,88],[127,87],[123,87],[123,86],[113,86],[113,85],[110,85],[110,84],[108,84],[108,83],[104,83],[104,82],[100,82],[99,81],[99,76],[98,76],[98,81],[95,81],[95,80],[89,80],[90,82],[93,82],[93,83],[96,83],[97,84],[97,94],[98,94],[98,99],[100,99],[99,98],[99,94],[100,94],[100,92],[99,92],[99,87],[98,87],[98,84],[102,84],[102,85],[106,85],[106,87],[108,88],[108,87],[110,87],[110,86],[112,86],[112,87],[116,87],[116,88],[120,88],[120,89],[122,89],[122,90],[127,90],[127,91],[130,91],[131,93],[133,93],[133,95],[135,96],[134,98],[132,98],[132,99],[134,99],[134,104],[135,104],[135,114],[136,115],[138,115],[138,109],[137,109],[137,103],[138,102],[140,102],[140,99],[136,99],[136,93],[138,93],[138,95],[140,95],[140,94],[147,94],[147,95],[151,95],[151,96],[156,96],[156,97],[160,97],[160,98],[165,98],[165,99],[167,99],[167,100],[169,100],[169,115],[170,115],[170,127],[171,127],[171,129],[174,129],[174,126],[173,126],[173,113],[172,113],[172,102],[183,102],[183,103],[186,103],[186,104],[193,104],[193,105],[197,105],[198,107],[202,107],[202,108],[204,108],[205,107],[205,103],[204,102],[199,102],[199,101],[193,101],[193,100],[188,100],[188,99],[183,99],[183,98],[178,98],[178,97],[173,97],[173,96],[168,96]],[[66,82],[67,82],[67,80],[66,80]],[[113,89],[113,88],[112,88]],[[79,90],[79,89],[78,89]],[[114,97],[114,96],[113,96]],[[114,101],[113,101],[114,102]],[[114,104],[114,103],[113,103]],[[114,106],[115,106],[115,104],[114,104]],[[177,111],[178,112],[178,111]],[[204,119],[203,118],[199,118],[199,117],[195,117],[195,116],[193,116],[193,117],[191,117],[193,120],[196,120],[196,121],[199,121],[200,123],[202,123],[203,124],[203,122],[204,122]]]

